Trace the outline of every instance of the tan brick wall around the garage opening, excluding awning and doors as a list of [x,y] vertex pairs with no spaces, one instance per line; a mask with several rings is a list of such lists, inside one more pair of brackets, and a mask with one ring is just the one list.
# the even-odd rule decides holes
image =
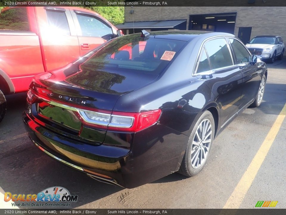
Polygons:
[[[132,21],[131,7],[125,7],[125,21]],[[286,7],[133,7],[134,21],[187,19],[189,15],[237,12],[234,34],[239,27],[252,27],[257,35],[279,35],[286,42]]]

